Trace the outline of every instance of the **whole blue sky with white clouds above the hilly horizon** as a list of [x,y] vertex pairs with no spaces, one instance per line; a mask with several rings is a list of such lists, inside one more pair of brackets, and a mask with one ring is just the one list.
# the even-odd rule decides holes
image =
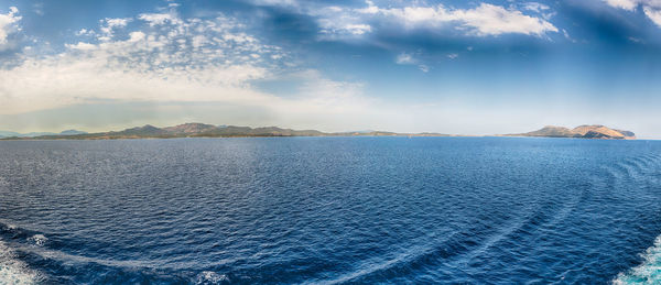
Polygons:
[[661,138],[661,0],[0,0],[0,130]]

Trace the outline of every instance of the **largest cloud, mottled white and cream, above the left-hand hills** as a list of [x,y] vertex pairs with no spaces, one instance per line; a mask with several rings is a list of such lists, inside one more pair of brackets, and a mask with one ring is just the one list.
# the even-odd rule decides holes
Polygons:
[[[138,15],[130,29],[130,19],[104,19],[97,28],[75,32],[76,41],[62,53],[23,54],[22,63],[0,68],[0,118],[19,123],[22,119],[17,118],[30,113],[98,108],[99,102],[134,107],[126,112],[151,103],[170,106],[159,109],[163,112],[210,105],[232,109],[235,120],[251,113],[259,117],[256,110],[260,110],[269,114],[269,124],[291,127],[310,122],[307,127],[339,128],[356,116],[383,118],[366,111],[375,101],[362,95],[362,84],[326,78],[314,69],[297,73],[291,95],[275,96],[254,87],[256,80],[277,80],[291,73],[286,68],[299,67],[289,63],[292,59],[282,48],[249,34],[237,19],[182,19],[169,13],[162,21],[165,18],[144,15]],[[335,127],[327,123],[336,121]]]

